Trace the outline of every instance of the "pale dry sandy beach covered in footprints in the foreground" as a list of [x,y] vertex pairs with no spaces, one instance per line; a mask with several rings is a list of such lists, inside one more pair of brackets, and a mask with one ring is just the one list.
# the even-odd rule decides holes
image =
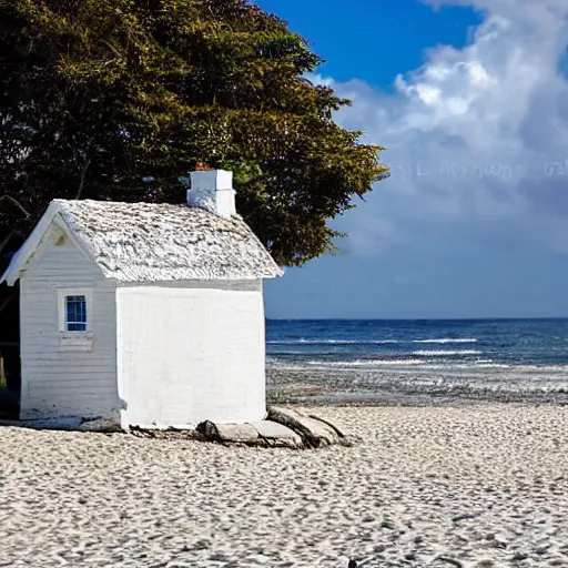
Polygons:
[[2,427],[0,566],[568,566],[568,408],[316,412],[363,442]]

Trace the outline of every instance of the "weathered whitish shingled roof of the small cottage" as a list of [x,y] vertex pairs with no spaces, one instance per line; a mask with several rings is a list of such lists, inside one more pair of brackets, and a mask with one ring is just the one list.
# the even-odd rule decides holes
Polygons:
[[282,271],[237,215],[187,205],[54,200],[0,280],[13,284],[52,223],[119,282],[256,280]]

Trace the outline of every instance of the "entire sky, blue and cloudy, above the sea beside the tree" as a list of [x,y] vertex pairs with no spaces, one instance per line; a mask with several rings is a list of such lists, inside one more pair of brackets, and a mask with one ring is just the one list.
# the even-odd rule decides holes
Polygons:
[[257,0],[386,148],[342,254],[267,282],[272,318],[568,316],[568,2]]

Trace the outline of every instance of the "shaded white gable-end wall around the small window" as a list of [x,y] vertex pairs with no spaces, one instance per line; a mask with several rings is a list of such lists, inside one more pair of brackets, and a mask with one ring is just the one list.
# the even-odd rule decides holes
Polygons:
[[[118,416],[115,286],[61,235],[50,231],[20,281],[20,416]],[[59,288],[92,288],[92,352],[62,349]]]

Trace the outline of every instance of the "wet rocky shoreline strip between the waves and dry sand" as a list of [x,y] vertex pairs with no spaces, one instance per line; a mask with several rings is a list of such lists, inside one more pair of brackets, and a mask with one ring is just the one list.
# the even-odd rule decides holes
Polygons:
[[523,373],[444,374],[427,369],[266,367],[271,404],[365,406],[463,406],[487,403],[568,405],[568,375]]

